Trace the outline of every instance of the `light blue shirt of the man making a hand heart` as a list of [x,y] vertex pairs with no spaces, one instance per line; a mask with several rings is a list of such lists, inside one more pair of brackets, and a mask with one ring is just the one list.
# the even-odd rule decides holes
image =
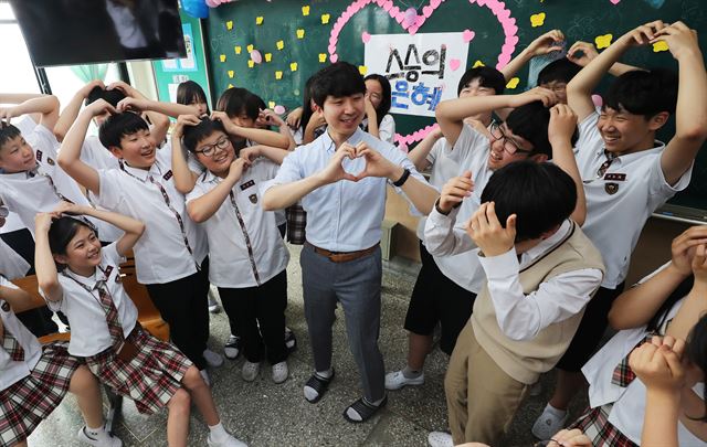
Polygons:
[[[351,146],[363,141],[391,162],[410,170],[410,175],[426,184],[414,164],[393,146],[356,129],[347,140]],[[264,191],[275,184],[302,180],[323,170],[336,151],[329,132],[325,132],[309,145],[295,149],[285,157],[277,175]],[[345,170],[358,173],[366,167],[363,158],[341,162]],[[307,241],[331,252],[356,252],[372,247],[380,242],[381,222],[386,211],[387,179],[366,178],[358,182],[341,180],[316,189],[302,199],[307,212]],[[397,188],[397,192],[402,190]]]

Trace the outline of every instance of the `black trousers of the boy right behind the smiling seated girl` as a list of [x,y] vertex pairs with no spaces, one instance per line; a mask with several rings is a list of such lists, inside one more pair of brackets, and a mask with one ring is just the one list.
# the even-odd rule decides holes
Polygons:
[[148,284],[147,291],[162,319],[169,324],[169,334],[179,350],[203,370],[203,351],[209,340],[209,258],[201,270],[165,284]]

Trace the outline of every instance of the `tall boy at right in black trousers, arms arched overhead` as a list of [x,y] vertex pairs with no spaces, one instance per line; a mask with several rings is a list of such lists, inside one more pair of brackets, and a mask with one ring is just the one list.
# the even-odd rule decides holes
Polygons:
[[[677,60],[679,86],[669,72],[631,71],[613,82],[598,111],[591,94],[609,67],[630,47],[657,41],[666,42]],[[587,195],[582,228],[600,248],[606,275],[558,363],[555,394],[532,428],[538,437],[563,426],[571,397],[584,385],[579,371],[598,347],[611,304],[623,290],[643,225],[689,183],[695,157],[707,138],[707,75],[697,38],[682,22],[641,25],[582,68],[568,84],[567,97],[580,119],[577,164]],[[655,134],[673,110],[675,136],[664,145]]]

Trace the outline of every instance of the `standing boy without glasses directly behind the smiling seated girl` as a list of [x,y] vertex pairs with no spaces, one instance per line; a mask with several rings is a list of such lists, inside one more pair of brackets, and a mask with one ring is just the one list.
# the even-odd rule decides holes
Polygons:
[[147,230],[135,246],[137,279],[169,323],[175,344],[208,377],[207,364],[223,363],[207,348],[209,264],[205,235],[187,215],[170,169],[172,153],[157,150],[139,115],[112,115],[101,126],[101,141],[120,159],[119,169],[96,170],[81,160],[82,141],[94,116],[115,113],[105,100],[86,107],[62,143],[59,162],[106,210],[144,219]]

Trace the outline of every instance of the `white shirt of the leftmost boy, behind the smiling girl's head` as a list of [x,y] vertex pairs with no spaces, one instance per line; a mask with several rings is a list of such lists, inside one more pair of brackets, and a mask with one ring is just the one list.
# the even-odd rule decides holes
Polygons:
[[[22,224],[34,236],[36,213],[51,212],[62,200],[89,205],[78,184],[56,163],[57,141],[43,125],[23,136],[34,151],[36,168],[33,171],[0,174],[0,202],[15,212]],[[122,232],[97,219],[88,219],[97,228],[102,241],[115,241]]]

